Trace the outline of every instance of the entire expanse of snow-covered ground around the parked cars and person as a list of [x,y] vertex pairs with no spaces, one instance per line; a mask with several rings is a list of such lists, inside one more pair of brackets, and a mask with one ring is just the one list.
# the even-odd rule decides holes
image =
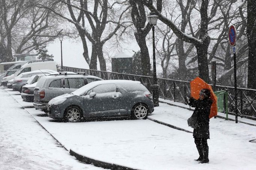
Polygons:
[[[198,164],[191,133],[148,119],[62,123],[29,108],[32,105],[23,102],[19,92],[0,88],[1,170],[99,169],[77,161],[54,138],[67,150],[134,169],[256,169],[256,143],[248,142],[256,139],[256,126],[210,119],[210,162]],[[149,118],[192,131],[187,126],[191,114],[187,109],[160,103]]]

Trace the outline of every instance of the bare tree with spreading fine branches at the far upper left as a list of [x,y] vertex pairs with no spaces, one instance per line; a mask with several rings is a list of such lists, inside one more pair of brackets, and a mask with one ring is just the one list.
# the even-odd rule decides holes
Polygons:
[[[0,0],[2,60],[11,61],[12,53],[31,52],[59,36],[58,20],[50,10],[37,6],[39,0]],[[47,0],[40,3],[48,4]]]

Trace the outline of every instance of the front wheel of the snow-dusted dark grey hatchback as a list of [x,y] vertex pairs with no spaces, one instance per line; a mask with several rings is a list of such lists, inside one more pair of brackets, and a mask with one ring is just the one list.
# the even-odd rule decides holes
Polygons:
[[65,120],[67,122],[79,122],[82,117],[82,111],[78,106],[70,106],[66,109]]

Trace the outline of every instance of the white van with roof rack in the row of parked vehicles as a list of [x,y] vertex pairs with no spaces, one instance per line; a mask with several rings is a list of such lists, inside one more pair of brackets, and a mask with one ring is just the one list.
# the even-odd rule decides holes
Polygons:
[[21,66],[21,68],[17,70],[17,72],[15,72],[13,75],[3,78],[3,80],[1,81],[1,84],[6,86],[9,80],[20,75],[20,73],[31,72],[35,70],[41,70],[41,69],[53,70],[57,72],[56,63],[52,59],[28,61],[26,64]]

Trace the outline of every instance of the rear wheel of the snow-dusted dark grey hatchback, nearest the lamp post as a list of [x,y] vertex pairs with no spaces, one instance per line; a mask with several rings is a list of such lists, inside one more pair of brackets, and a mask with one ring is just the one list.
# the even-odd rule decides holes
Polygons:
[[131,114],[134,119],[146,119],[148,117],[148,108],[143,103],[136,104],[133,106]]

